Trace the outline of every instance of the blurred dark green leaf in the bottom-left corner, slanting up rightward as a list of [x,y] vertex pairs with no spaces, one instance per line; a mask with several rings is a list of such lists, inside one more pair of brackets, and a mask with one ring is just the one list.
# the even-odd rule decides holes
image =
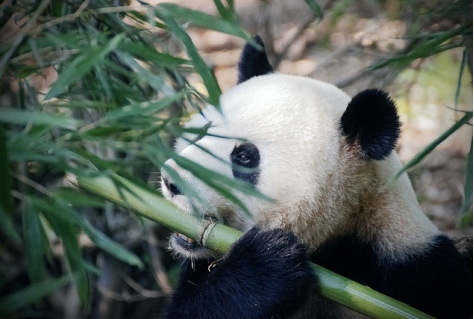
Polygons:
[[13,315],[17,311],[41,300],[51,292],[71,281],[66,275],[58,279],[48,279],[29,285],[27,288],[0,298],[0,314]]

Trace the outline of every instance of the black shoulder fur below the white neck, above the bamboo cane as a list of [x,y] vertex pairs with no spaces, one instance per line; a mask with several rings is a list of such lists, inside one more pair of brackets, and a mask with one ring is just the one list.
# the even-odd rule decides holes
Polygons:
[[472,315],[472,269],[443,235],[400,262],[383,259],[369,243],[346,235],[323,244],[311,261],[436,318]]

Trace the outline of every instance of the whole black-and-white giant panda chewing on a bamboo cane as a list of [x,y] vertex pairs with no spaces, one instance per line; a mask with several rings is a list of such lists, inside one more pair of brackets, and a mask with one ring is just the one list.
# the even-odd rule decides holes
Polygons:
[[238,73],[219,108],[207,106],[186,126],[207,133],[185,134],[176,152],[272,200],[234,191],[244,211],[175,160],[165,163],[167,199],[245,232],[224,256],[172,235],[185,261],[166,317],[361,316],[318,295],[309,262],[435,317],[469,317],[469,266],[420,210],[406,174],[390,182],[401,164],[388,94],[370,89],[350,98],[331,84],[278,74],[251,44]]

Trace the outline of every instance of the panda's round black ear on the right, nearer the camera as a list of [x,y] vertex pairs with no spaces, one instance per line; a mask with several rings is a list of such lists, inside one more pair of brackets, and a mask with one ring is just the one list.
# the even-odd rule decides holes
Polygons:
[[362,91],[349,102],[341,117],[341,128],[348,142],[357,143],[365,156],[384,159],[400,135],[395,103],[384,91]]

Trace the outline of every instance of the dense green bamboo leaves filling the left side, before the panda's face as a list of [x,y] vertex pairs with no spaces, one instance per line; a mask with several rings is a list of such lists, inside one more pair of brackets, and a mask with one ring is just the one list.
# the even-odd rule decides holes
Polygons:
[[[2,313],[41,308],[43,298],[70,279],[87,308],[97,268],[84,259],[81,236],[130,267],[145,266],[86,218],[91,207],[103,215],[104,201],[63,185],[69,174],[149,179],[173,154],[169,141],[183,132],[180,116],[218,105],[219,85],[182,23],[251,38],[236,23],[232,1],[215,4],[218,17],[172,4],[132,8],[107,1],[44,0],[8,8],[27,22],[0,46],[2,80],[18,86],[8,92],[13,104],[0,109],[0,229],[8,238],[2,249],[22,252],[16,258],[26,261],[29,284],[0,299]],[[169,53],[173,44],[187,58]],[[207,96],[189,85],[191,72],[200,75]],[[47,91],[35,86],[35,79],[55,74]],[[183,166],[207,178],[195,163]],[[238,204],[232,188],[253,193],[216,173],[208,183]],[[51,249],[55,238],[64,252],[59,256]],[[58,258],[66,265],[63,277],[52,271]]]

